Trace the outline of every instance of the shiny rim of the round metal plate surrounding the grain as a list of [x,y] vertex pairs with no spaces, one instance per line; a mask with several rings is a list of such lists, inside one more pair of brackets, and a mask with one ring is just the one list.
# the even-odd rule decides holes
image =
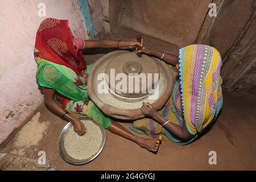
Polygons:
[[102,142],[101,142],[101,146],[98,149],[98,151],[96,152],[96,154],[94,154],[93,156],[91,156],[88,159],[84,159],[84,160],[77,160],[72,158],[70,155],[67,154],[67,151],[65,150],[64,147],[64,138],[65,135],[68,133],[69,130],[73,130],[72,128],[72,123],[69,122],[67,125],[65,125],[65,127],[63,128],[63,130],[60,133],[60,137],[59,137],[59,153],[61,158],[63,158],[65,160],[65,162],[69,163],[69,164],[73,164],[73,165],[82,165],[82,164],[86,164],[91,162],[93,159],[97,158],[98,155],[100,155],[101,151],[104,148],[105,142],[106,142],[106,133],[105,133],[105,129],[103,126],[99,125],[98,123],[96,123],[95,121],[93,121],[92,119],[88,118],[88,117],[81,117],[78,118],[79,120],[90,120],[92,121],[95,125],[97,125],[98,127],[100,127],[101,129],[101,133],[102,133]]

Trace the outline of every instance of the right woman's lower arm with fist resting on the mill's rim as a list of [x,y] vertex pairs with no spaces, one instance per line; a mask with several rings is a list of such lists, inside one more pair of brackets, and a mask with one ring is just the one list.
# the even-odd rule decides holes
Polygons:
[[[157,122],[159,122],[160,125],[163,125],[167,122],[166,119],[164,119],[148,102],[142,103],[141,112],[142,114],[155,119]],[[166,125],[164,125],[164,127],[166,127],[168,131],[170,131],[172,134],[182,140],[189,140],[193,137],[193,135],[189,133],[185,121],[183,121],[183,126],[175,125],[172,122],[168,122],[166,123]]]

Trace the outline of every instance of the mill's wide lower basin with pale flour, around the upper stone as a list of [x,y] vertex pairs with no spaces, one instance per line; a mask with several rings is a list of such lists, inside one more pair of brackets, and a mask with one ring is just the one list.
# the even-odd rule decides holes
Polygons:
[[[105,68],[109,61],[113,60],[118,55],[127,53],[128,51],[114,51],[102,56],[94,63],[88,75],[88,96],[96,104],[103,113],[113,118],[118,119],[139,119],[144,115],[141,113],[142,102],[150,102],[156,110],[162,109],[168,99],[171,97],[174,86],[174,76],[168,65],[159,59],[152,57],[159,69],[159,92],[154,90],[152,94],[147,94],[142,97],[123,97],[116,93],[109,92],[109,86],[106,85]],[[133,52],[135,55],[135,52]],[[143,55],[142,55],[143,56]],[[102,89],[106,88],[106,93],[102,93]],[[99,89],[100,88],[100,89]],[[154,96],[152,98],[151,96]]]

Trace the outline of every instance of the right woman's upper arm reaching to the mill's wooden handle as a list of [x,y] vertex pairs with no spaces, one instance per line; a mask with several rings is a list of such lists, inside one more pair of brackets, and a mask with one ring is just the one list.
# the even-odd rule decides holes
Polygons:
[[142,47],[141,50],[139,50],[138,52],[141,52],[141,53],[146,53],[147,55],[154,55],[156,57],[158,57],[159,59],[162,57],[162,60],[166,61],[166,63],[168,64],[172,64],[172,65],[176,65],[177,64],[177,56],[175,55],[172,55],[170,53],[164,53],[164,52],[160,52],[160,51],[155,51],[155,50],[152,50],[152,49],[148,49],[146,47]]

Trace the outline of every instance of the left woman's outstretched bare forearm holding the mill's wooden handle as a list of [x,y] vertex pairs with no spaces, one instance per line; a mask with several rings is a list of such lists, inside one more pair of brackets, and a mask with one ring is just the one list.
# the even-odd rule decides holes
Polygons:
[[134,47],[142,46],[137,41],[119,41],[119,40],[84,40],[84,48],[111,48],[111,47]]

